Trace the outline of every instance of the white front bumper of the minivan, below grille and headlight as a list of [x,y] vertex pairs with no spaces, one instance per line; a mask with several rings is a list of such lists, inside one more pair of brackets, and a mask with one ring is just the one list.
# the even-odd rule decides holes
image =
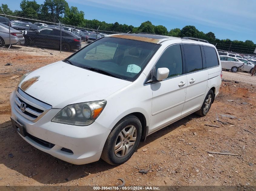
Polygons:
[[[100,159],[105,141],[110,133],[109,129],[97,122],[89,126],[73,126],[51,122],[60,109],[49,110],[41,119],[34,123],[15,110],[14,97],[14,93],[12,93],[10,97],[12,117],[25,126],[26,131],[30,135],[49,142],[54,146],[48,148],[36,142],[31,136],[23,137],[21,135],[29,144],[72,164],[87,164]],[[63,148],[70,149],[73,153],[63,151]]]

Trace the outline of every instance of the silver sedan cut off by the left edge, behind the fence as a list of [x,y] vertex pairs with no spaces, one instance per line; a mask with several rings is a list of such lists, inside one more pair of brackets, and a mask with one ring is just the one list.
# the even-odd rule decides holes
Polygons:
[[[25,39],[22,32],[10,27],[11,44],[24,44]],[[0,47],[10,44],[9,26],[0,23]]]

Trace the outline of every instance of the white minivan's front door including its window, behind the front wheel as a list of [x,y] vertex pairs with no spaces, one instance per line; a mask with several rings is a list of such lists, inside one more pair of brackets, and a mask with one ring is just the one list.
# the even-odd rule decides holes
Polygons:
[[187,88],[181,55],[180,44],[169,46],[155,65],[156,71],[168,68],[170,72],[165,80],[151,84],[153,99],[149,133],[181,117]]

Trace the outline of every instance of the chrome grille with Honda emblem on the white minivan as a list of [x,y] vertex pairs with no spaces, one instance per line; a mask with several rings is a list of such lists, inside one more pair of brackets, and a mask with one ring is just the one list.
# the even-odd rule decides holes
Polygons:
[[[21,105],[26,105],[25,109],[22,111]],[[44,103],[35,99],[34,97],[29,96],[20,88],[17,89],[15,94],[15,110],[24,116],[26,119],[36,122],[42,116],[45,115],[50,109],[51,105]]]

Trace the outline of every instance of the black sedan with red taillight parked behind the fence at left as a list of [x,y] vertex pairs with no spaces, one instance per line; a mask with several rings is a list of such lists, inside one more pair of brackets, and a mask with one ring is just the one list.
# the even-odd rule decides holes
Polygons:
[[[52,49],[60,49],[60,29],[46,27],[36,31],[25,31],[25,44]],[[62,30],[62,50],[71,51],[81,48],[81,38]]]

